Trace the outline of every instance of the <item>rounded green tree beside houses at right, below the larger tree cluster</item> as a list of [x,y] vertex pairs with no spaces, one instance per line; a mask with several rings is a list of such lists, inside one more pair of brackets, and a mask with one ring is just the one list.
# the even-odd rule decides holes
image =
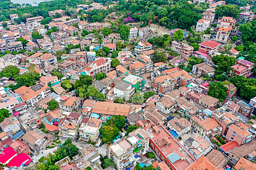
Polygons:
[[227,98],[227,91],[228,88],[224,86],[221,82],[212,83],[209,85],[209,91],[207,94],[214,98],[217,98],[220,102],[225,101]]

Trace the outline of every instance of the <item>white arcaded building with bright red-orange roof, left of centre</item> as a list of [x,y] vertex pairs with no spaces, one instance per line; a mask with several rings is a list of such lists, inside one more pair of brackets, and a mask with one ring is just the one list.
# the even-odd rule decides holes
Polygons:
[[104,58],[99,58],[98,60],[89,62],[85,65],[84,73],[92,78],[95,78],[95,74],[102,72],[105,74],[110,72],[110,63]]

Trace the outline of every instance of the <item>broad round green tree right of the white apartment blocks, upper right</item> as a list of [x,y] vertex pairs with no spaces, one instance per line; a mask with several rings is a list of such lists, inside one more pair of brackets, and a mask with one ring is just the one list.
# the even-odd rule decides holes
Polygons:
[[235,65],[236,58],[233,56],[227,56],[224,54],[216,55],[212,57],[212,61],[215,65],[217,65],[217,69],[219,71],[226,72],[230,66]]

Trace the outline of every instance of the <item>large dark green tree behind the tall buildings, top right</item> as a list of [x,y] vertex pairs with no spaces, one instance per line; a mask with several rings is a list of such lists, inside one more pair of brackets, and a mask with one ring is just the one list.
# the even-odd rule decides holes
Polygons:
[[237,5],[227,4],[218,6],[215,10],[217,17],[238,17],[239,8]]

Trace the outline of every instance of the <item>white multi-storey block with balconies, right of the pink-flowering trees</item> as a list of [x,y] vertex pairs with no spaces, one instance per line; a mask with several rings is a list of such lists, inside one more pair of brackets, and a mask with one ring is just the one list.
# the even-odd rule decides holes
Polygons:
[[184,59],[190,57],[194,52],[192,46],[186,43],[178,43],[177,41],[172,41],[172,50],[180,54]]

